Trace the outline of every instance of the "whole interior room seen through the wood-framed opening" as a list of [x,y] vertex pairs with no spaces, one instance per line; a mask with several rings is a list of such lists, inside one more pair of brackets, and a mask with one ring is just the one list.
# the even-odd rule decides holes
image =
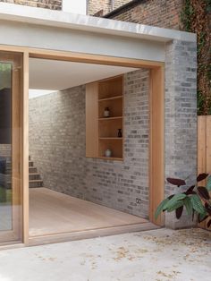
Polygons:
[[148,224],[149,70],[30,58],[30,238]]

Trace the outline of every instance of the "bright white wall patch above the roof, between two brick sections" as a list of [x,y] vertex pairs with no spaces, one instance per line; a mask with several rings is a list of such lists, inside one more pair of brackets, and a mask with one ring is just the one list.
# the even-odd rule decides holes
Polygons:
[[63,12],[87,14],[87,0],[63,0]]

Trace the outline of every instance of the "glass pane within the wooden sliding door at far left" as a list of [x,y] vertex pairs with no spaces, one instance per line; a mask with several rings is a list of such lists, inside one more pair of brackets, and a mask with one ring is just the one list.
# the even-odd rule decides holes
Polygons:
[[0,62],[0,231],[13,229],[12,70]]

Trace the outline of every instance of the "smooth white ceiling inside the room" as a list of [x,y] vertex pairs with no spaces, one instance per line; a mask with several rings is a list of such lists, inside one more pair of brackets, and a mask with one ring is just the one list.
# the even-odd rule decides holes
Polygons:
[[68,89],[134,70],[130,67],[30,58],[30,89]]

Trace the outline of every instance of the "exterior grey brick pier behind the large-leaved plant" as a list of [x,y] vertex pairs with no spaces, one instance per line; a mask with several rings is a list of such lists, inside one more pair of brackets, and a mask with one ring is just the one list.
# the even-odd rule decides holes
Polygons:
[[[165,178],[197,175],[197,47],[195,43],[174,41],[166,45],[165,62]],[[180,190],[165,186],[168,196]],[[178,228],[192,225],[190,217],[180,220],[173,213],[165,225]]]

